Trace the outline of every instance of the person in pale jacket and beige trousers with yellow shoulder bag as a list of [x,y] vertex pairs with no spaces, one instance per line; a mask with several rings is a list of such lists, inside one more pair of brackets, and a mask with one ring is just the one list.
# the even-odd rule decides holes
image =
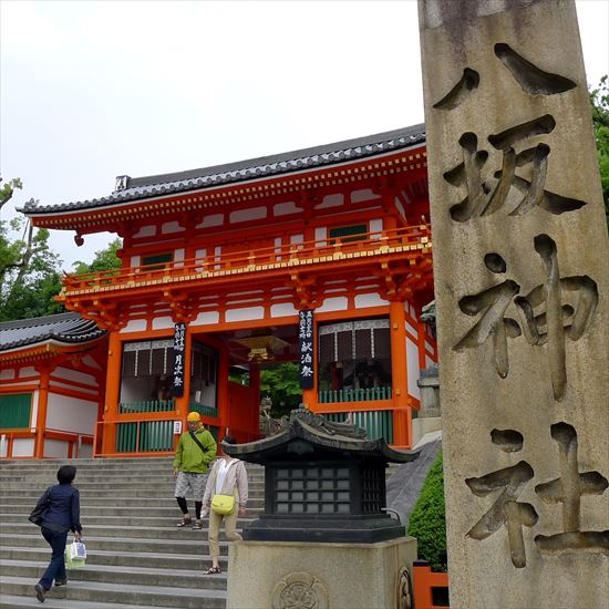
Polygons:
[[[236,444],[231,435],[225,436],[224,443]],[[211,506],[214,495],[231,495],[235,497],[235,508],[230,514],[216,514]],[[246,515],[246,504],[248,496],[247,472],[242,461],[233,458],[229,455],[223,455],[216,461],[205,487],[203,496],[202,517],[209,514],[209,554],[211,555],[211,567],[203,571],[204,575],[214,575],[220,572],[219,557],[220,546],[218,535],[220,525],[225,523],[225,535],[229,541],[242,539],[237,533],[237,516]],[[237,507],[238,506],[238,507]]]

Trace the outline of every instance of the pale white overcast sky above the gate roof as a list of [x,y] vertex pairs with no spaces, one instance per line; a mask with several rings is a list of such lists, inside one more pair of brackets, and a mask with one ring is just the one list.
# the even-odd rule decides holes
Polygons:
[[[446,0],[451,1],[451,0]],[[609,0],[578,0],[587,80]],[[0,0],[0,171],[44,205],[423,122],[415,0]],[[64,269],[114,235],[53,231]]]

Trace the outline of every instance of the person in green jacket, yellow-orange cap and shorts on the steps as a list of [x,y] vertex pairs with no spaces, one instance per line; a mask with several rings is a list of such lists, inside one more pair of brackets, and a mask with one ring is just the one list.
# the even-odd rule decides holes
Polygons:
[[186,503],[186,493],[192,489],[195,496],[195,524],[193,528],[200,529],[203,528],[200,508],[209,464],[216,458],[218,447],[214,436],[203,426],[198,412],[190,412],[186,417],[186,422],[188,431],[183,433],[177,441],[176,456],[173,464],[174,478],[176,479],[174,495],[182,510],[182,520],[177,526],[182,528],[193,522]]

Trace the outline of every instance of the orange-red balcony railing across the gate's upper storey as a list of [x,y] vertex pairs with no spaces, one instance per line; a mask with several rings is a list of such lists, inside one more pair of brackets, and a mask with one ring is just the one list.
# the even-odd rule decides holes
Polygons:
[[[300,244],[283,244],[216,256],[174,260],[149,266],[128,267],[101,272],[68,275],[63,279],[62,295],[68,291],[89,290],[103,286],[130,287],[144,281],[171,280],[177,277],[205,277],[226,273],[235,269],[252,269],[269,265],[295,266],[319,258],[340,258],[381,248],[383,252],[404,247],[429,247],[431,231],[427,225],[407,226],[388,230],[373,230],[345,237],[327,237]],[[358,240],[353,240],[354,237]]]

